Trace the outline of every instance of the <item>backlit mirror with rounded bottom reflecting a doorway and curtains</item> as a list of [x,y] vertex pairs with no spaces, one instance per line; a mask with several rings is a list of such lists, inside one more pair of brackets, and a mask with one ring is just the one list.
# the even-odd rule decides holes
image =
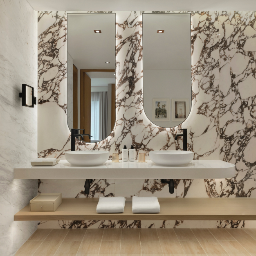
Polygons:
[[115,13],[67,13],[67,124],[97,142],[115,125]]

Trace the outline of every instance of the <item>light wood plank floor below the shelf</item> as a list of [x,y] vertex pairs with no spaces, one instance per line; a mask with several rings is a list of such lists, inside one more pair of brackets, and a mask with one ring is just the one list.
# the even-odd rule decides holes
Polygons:
[[38,229],[25,255],[256,256],[256,229]]

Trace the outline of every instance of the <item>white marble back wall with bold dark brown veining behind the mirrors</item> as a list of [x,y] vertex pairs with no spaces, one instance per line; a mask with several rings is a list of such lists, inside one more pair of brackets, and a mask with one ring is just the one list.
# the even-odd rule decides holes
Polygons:
[[[194,159],[236,164],[236,177],[175,180],[168,193],[157,180],[94,180],[89,197],[255,197],[256,196],[256,16],[254,11],[192,11],[192,109],[183,124],[160,128],[143,110],[142,11],[116,11],[116,124],[96,144],[76,141],[77,150],[121,153],[182,150],[174,141],[188,129]],[[66,121],[66,13],[38,13],[38,157],[63,158],[70,150]],[[145,85],[146,86],[146,85]],[[51,135],[52,130],[56,130]],[[159,177],[161,178],[161,177]],[[38,180],[38,191],[84,197],[84,181]],[[39,227],[256,227],[252,221],[61,221]]]

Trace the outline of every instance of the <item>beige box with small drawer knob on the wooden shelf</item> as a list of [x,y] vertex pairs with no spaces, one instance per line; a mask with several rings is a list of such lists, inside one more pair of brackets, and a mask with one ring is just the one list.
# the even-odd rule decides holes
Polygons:
[[59,194],[39,194],[30,200],[30,211],[56,211],[62,202]]

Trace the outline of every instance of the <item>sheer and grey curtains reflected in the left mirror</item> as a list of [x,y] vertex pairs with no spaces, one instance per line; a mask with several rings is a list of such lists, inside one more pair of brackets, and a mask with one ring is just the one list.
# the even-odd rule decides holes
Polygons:
[[91,141],[105,139],[108,120],[108,92],[91,92]]

